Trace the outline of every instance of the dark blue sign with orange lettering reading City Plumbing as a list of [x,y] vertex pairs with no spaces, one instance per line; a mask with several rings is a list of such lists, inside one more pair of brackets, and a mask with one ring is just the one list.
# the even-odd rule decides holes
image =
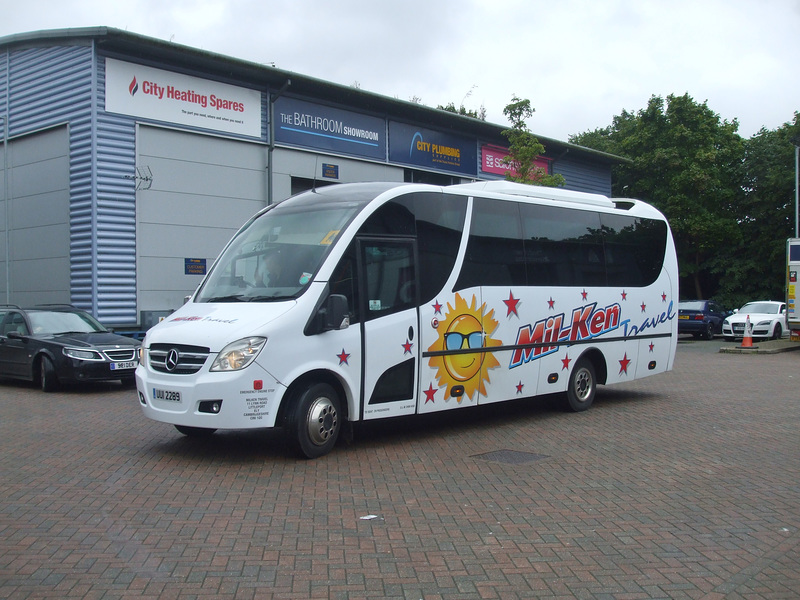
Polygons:
[[460,175],[476,175],[477,149],[474,140],[389,122],[389,160]]

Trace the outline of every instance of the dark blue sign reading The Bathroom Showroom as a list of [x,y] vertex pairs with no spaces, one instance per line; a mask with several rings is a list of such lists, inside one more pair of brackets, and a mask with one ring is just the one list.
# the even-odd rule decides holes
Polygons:
[[276,142],[386,159],[383,119],[287,97],[275,101],[273,114]]

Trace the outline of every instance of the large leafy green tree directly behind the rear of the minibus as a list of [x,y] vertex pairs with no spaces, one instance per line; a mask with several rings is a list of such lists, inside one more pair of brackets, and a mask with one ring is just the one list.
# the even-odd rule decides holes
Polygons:
[[688,94],[653,96],[637,113],[570,141],[628,157],[614,167],[614,195],[641,198],[670,222],[685,297],[706,298],[728,272],[741,239],[744,144],[736,120],[720,120]]

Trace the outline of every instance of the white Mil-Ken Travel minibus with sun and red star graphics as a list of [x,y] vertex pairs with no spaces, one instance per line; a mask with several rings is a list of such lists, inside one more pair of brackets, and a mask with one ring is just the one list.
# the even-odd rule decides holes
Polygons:
[[150,329],[144,414],[190,436],[283,428],[308,458],[355,421],[672,368],[678,263],[637,200],[505,181],[327,186],[269,206]]

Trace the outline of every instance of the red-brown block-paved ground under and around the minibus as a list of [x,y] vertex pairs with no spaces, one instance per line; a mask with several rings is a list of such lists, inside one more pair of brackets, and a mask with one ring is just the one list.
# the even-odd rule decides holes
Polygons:
[[800,353],[700,344],[585,413],[393,421],[315,461],[4,382],[0,597],[798,597]]

